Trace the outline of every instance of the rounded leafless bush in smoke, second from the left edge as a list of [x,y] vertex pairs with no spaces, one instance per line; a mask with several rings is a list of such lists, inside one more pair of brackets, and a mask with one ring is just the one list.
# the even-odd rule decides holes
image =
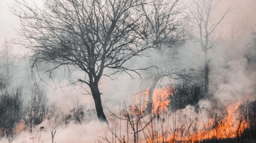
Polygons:
[[34,126],[39,125],[45,118],[48,110],[47,98],[41,91],[35,91],[25,106],[25,123],[32,132]]

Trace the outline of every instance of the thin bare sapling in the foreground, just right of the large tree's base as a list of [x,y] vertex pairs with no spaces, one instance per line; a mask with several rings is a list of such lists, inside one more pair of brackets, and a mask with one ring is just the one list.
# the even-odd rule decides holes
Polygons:
[[[109,124],[108,128],[109,131],[112,134],[112,141],[109,140],[106,136],[105,137],[100,137],[106,142],[120,142],[120,143],[128,143],[129,142],[129,134],[131,134],[131,139],[133,140],[133,143],[139,143],[141,142],[140,140],[140,134],[144,134],[144,130],[152,124],[153,120],[155,120],[159,114],[159,107],[158,105],[155,110],[153,110],[153,113],[148,115],[145,110],[141,110],[138,106],[126,106],[124,105],[124,109],[122,109],[119,113],[115,113],[110,111],[111,113],[111,124]],[[118,122],[116,122],[119,120]],[[123,135],[121,128],[119,128],[118,131],[118,126],[122,126],[122,122],[126,124],[126,139],[125,136]],[[123,135],[123,136],[122,136]],[[101,141],[98,140],[99,143]],[[148,141],[150,142],[150,141]]]

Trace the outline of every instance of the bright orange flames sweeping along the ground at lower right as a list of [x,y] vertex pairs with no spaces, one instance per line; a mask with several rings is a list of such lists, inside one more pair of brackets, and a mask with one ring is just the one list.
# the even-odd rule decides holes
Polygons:
[[209,119],[208,123],[204,124],[204,128],[196,134],[190,135],[185,139],[170,137],[168,141],[182,140],[183,142],[194,143],[206,139],[236,138],[247,128],[247,123],[244,122],[242,117],[238,120],[238,107],[240,105],[240,102],[236,105],[228,105],[223,114],[223,119],[219,121],[216,118]]

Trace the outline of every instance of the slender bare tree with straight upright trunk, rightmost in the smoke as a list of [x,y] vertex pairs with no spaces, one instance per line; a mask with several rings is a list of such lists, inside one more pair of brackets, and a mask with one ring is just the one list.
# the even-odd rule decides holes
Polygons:
[[215,19],[212,14],[216,10],[220,0],[193,0],[189,6],[188,20],[196,26],[199,33],[198,41],[204,55],[204,90],[209,89],[210,61],[209,50],[214,49],[218,43],[218,37],[214,35],[216,28],[221,24],[225,16],[232,11],[229,7],[219,19]]

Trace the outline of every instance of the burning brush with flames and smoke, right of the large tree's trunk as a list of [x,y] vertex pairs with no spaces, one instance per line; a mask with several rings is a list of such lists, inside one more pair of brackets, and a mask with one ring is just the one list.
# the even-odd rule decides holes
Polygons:
[[[171,89],[171,90],[170,90]],[[146,110],[148,90],[134,93],[131,105],[111,112],[112,139],[102,142],[199,143],[253,142],[256,129],[256,102],[244,95],[244,102],[220,104],[201,99],[197,104],[173,109],[173,88],[157,89],[152,112]]]

